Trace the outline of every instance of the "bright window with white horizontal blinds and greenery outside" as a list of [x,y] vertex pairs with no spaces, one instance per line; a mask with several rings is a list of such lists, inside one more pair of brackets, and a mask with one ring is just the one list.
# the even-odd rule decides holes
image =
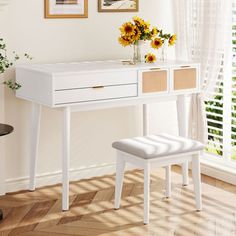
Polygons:
[[208,130],[206,151],[213,160],[230,166],[236,165],[236,1],[232,9],[232,74],[223,78],[225,62],[222,54],[222,68],[215,91],[205,101]]

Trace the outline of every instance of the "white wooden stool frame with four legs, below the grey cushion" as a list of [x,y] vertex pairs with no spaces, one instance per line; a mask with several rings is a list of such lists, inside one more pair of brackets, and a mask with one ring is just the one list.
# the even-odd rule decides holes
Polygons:
[[192,178],[194,184],[196,208],[202,210],[200,155],[202,151],[178,153],[176,155],[144,159],[135,155],[117,150],[116,158],[116,186],[115,209],[120,208],[121,193],[126,163],[131,163],[144,170],[144,219],[143,223],[149,223],[149,199],[150,199],[150,169],[151,167],[165,167],[166,170],[166,197],[171,196],[171,165],[192,162]]

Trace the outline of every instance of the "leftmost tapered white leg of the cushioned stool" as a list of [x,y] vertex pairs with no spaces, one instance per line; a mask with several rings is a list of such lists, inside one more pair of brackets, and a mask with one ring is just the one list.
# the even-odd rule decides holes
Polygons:
[[125,172],[125,161],[122,158],[122,154],[117,151],[116,157],[116,187],[115,187],[115,209],[120,208],[120,199],[123,187]]

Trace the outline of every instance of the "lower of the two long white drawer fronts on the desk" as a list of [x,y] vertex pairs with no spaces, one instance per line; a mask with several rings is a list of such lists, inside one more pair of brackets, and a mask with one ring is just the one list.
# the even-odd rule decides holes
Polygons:
[[59,105],[114,98],[136,97],[138,93],[137,90],[137,84],[61,90],[55,92],[54,103],[55,105]]

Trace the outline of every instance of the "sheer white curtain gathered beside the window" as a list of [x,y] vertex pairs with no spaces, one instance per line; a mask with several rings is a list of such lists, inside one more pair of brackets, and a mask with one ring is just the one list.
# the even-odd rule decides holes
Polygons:
[[[204,100],[231,68],[231,0],[175,0],[176,59],[200,62],[202,93],[190,102],[189,136],[207,140]],[[228,78],[230,79],[230,78]]]

